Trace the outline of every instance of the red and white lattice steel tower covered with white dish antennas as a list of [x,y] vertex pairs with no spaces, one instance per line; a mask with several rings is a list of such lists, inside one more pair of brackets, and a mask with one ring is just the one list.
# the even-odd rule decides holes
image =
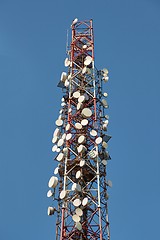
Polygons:
[[[53,198],[48,215],[57,213],[56,240],[110,239],[108,220],[107,142],[109,116],[102,85],[108,70],[94,64],[92,20],[72,22],[66,72],[58,84],[63,90],[53,134],[52,151],[58,166],[49,180]],[[55,176],[57,175],[57,176]],[[57,201],[56,201],[57,200]]]

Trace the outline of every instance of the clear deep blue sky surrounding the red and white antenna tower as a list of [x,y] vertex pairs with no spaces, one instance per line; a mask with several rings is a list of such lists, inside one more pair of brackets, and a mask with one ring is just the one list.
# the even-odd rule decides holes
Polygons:
[[93,19],[96,67],[110,74],[111,240],[158,239],[159,12],[158,0],[0,0],[0,239],[55,239],[46,192],[75,17]]

